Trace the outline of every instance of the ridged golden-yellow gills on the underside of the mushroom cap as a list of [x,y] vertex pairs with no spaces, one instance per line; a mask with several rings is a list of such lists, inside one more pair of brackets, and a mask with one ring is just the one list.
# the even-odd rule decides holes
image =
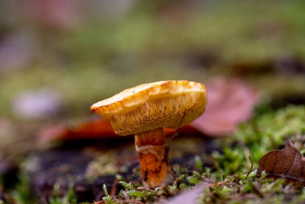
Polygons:
[[206,104],[205,93],[155,97],[128,112],[114,114],[111,124],[119,135],[130,135],[160,127],[178,128],[200,116]]

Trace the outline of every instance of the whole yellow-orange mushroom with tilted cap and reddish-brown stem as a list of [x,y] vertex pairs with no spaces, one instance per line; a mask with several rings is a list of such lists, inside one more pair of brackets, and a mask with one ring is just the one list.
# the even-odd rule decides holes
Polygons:
[[199,117],[206,87],[189,81],[137,85],[96,102],[92,112],[110,120],[118,135],[134,134],[143,184],[154,188],[170,180],[169,144],[163,127],[178,128]]

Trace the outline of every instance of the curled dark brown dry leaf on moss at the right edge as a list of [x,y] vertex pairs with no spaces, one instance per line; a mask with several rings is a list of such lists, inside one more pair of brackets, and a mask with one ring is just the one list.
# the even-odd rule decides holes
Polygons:
[[305,157],[288,140],[283,150],[273,150],[265,154],[259,162],[259,173],[263,170],[267,177],[283,177],[289,180],[305,182]]

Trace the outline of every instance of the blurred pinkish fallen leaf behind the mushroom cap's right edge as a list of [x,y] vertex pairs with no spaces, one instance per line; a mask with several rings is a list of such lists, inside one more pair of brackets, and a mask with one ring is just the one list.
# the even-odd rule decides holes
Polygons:
[[260,94],[240,80],[216,78],[207,85],[208,105],[205,113],[191,126],[209,136],[231,134],[252,117]]

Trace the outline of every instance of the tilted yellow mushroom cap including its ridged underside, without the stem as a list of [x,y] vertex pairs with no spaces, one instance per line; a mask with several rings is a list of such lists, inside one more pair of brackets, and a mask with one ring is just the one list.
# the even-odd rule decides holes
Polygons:
[[206,87],[189,81],[144,83],[96,102],[91,110],[111,121],[118,135],[178,128],[205,110]]

